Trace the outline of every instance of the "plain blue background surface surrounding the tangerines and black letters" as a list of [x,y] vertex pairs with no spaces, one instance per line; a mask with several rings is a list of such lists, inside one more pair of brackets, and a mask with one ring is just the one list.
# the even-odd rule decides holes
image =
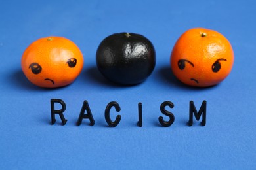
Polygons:
[[[255,9],[253,0],[1,1],[0,169],[255,168]],[[217,86],[190,88],[171,73],[171,50],[193,27],[219,31],[232,44],[234,67]],[[154,72],[137,86],[117,86],[96,69],[98,44],[119,32],[142,34],[156,49]],[[50,35],[74,41],[85,59],[73,84],[53,90],[28,82],[20,67],[26,47]],[[65,126],[58,115],[50,125],[52,98],[66,103]],[[95,126],[75,126],[84,100]],[[207,101],[206,126],[186,125],[190,100],[198,110]],[[121,107],[115,128],[104,120],[110,101]],[[163,101],[175,105],[171,127],[158,122]]]

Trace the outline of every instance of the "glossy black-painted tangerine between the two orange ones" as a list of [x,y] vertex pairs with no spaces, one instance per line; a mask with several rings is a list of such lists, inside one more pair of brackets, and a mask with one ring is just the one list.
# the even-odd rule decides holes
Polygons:
[[139,84],[154,70],[156,52],[143,35],[115,33],[98,46],[96,63],[100,73],[113,82]]

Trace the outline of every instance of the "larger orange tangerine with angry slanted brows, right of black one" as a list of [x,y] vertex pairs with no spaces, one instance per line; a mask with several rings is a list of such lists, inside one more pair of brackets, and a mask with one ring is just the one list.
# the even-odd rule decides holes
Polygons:
[[218,84],[228,76],[233,62],[228,40],[209,29],[188,30],[178,39],[171,54],[173,74],[190,86]]

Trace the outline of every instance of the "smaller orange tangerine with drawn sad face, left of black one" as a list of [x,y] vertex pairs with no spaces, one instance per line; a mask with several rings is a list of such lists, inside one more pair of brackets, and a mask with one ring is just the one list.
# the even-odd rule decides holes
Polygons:
[[66,86],[77,78],[82,68],[81,51],[63,37],[39,39],[22,56],[22,71],[30,82],[40,87]]

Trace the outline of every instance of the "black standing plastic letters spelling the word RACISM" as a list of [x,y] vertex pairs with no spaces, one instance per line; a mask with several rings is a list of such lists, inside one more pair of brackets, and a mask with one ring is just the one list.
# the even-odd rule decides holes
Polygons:
[[[55,110],[54,109],[55,103],[59,103],[62,106],[62,108],[60,110]],[[173,105],[173,103],[171,103],[171,101],[164,101],[163,103],[161,103],[161,106],[160,106],[161,113],[164,114],[165,116],[168,116],[169,121],[163,120],[162,116],[160,116],[158,118],[158,121],[160,122],[160,124],[162,126],[169,127],[173,124],[175,117],[174,117],[173,113],[171,113],[165,109],[166,106],[173,108],[174,105]],[[110,127],[116,127],[121,120],[121,116],[117,115],[116,120],[112,121],[110,119],[110,109],[112,107],[115,107],[117,112],[119,112],[121,110],[119,104],[116,101],[112,101],[112,102],[108,103],[108,105],[106,106],[106,109],[105,109],[105,120]],[[52,124],[55,124],[55,122],[56,122],[55,114],[59,114],[63,125],[66,124],[67,120],[65,119],[64,114],[63,114],[65,110],[66,110],[66,104],[64,103],[64,101],[62,101],[62,99],[51,99],[51,122],[52,122]],[[142,103],[138,104],[138,110],[139,110],[138,111],[139,121],[137,122],[137,124],[139,127],[142,127]],[[87,114],[85,114],[85,111],[87,111]],[[203,101],[199,112],[196,110],[194,102],[190,101],[188,126],[192,126],[192,124],[193,124],[193,113],[194,113],[194,116],[196,117],[196,120],[200,120],[200,117],[203,114],[201,124],[202,124],[202,126],[205,126],[205,124],[206,124],[206,101]],[[89,119],[91,126],[93,126],[95,124],[95,120],[93,119],[93,114],[92,114],[89,104],[86,100],[83,101],[83,106],[81,108],[81,112],[80,112],[78,120],[77,120],[77,126],[79,126],[82,123],[83,119]]]

